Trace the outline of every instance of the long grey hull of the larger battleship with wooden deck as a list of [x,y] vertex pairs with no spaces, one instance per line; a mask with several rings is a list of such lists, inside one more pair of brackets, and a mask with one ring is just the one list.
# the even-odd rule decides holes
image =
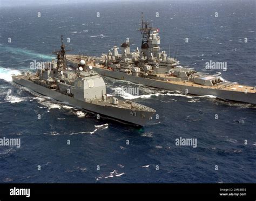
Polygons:
[[154,80],[149,78],[135,77],[133,75],[128,75],[119,71],[109,71],[104,68],[94,67],[94,71],[97,73],[120,80],[131,81],[137,84],[146,85],[155,88],[166,89],[169,91],[180,91],[191,95],[213,95],[219,99],[228,100],[228,101],[237,101],[237,102],[246,102],[256,105],[256,93],[244,93],[237,91],[226,91],[221,89],[211,89],[204,87],[192,87],[185,85],[172,84],[171,82],[165,82],[160,80]]

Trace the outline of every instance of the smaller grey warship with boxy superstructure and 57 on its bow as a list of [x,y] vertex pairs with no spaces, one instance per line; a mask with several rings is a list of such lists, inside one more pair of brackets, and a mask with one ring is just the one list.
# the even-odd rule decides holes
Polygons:
[[36,73],[27,71],[22,75],[12,75],[12,80],[39,94],[123,123],[138,126],[152,123],[156,110],[107,95],[103,78],[91,66],[85,65],[84,60],[80,60],[78,70],[69,70],[65,52],[62,38],[61,50],[55,52],[57,62],[53,59],[43,63]]

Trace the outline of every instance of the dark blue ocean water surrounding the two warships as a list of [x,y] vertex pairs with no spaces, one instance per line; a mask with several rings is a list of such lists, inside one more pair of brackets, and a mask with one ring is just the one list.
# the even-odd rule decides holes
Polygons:
[[[224,61],[225,79],[256,85],[255,1],[0,8],[0,137],[21,139],[20,148],[0,146],[1,183],[256,182],[255,106],[104,78],[108,93],[157,110],[160,123],[136,128],[97,120],[11,81],[31,61],[51,60],[62,34],[72,53],[100,56],[127,37],[136,49],[141,12],[159,28],[163,50],[181,64],[206,71],[206,61]],[[139,87],[139,95],[124,87]],[[176,146],[179,137],[196,138],[197,147]]]

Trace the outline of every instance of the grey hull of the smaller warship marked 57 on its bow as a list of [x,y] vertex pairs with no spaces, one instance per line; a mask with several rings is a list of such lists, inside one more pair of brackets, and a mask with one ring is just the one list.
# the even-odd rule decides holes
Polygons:
[[[40,86],[35,84],[34,82],[28,80],[24,75],[13,76],[12,81],[15,83],[22,85],[26,88],[31,89],[39,94],[49,96],[55,100],[61,102],[67,102],[72,106],[83,108],[88,112],[94,114],[100,114],[103,116],[111,117],[111,119],[122,121],[123,123],[133,124],[137,126],[145,126],[147,124],[152,124],[153,114],[152,111],[141,111],[141,110],[131,110],[121,107],[114,107],[104,105],[104,103],[95,102],[84,102],[77,99],[72,98],[71,96],[59,93],[58,91],[54,91],[52,89]],[[133,113],[131,113],[133,112]],[[136,116],[134,116],[134,112],[136,112]]]

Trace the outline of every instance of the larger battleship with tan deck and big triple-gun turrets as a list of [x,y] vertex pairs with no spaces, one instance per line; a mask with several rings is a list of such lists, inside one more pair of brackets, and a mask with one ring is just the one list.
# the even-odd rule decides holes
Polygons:
[[[188,66],[181,66],[179,61],[167,57],[160,49],[159,30],[143,22],[141,50],[130,52],[130,42],[125,41],[120,47],[113,46],[112,51],[101,57],[83,56],[101,75],[115,79],[127,80],[150,87],[179,91],[191,95],[213,95],[225,101],[256,104],[256,90],[230,82],[221,77],[221,73],[208,74],[196,72]],[[79,65],[78,55],[68,55],[68,63],[73,67]]]

